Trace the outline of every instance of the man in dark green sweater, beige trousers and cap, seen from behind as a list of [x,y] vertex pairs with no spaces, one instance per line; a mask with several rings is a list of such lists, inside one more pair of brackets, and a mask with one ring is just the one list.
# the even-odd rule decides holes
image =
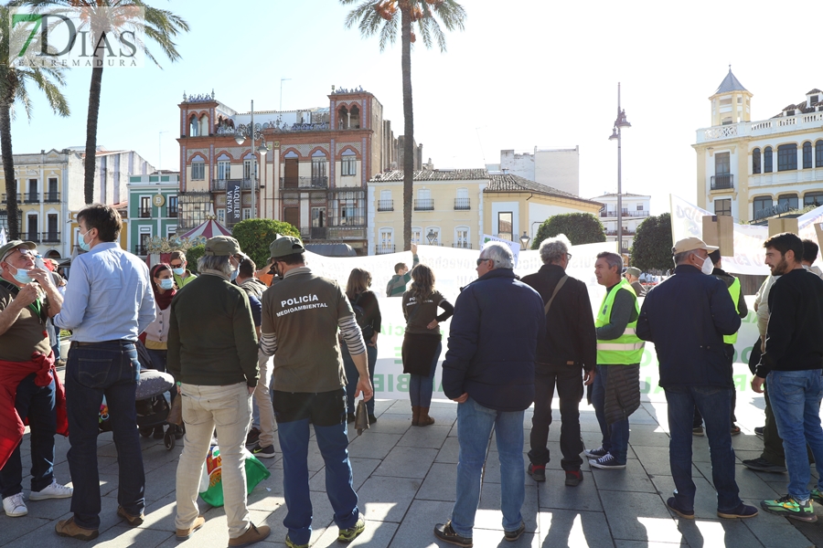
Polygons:
[[187,539],[206,522],[198,515],[198,487],[215,427],[229,546],[262,541],[270,532],[251,522],[247,506],[243,446],[259,370],[249,297],[230,283],[239,266],[236,239],[208,239],[198,261],[200,275],[178,290],[171,303],[167,367],[183,395],[186,424],[177,463],[177,540]]

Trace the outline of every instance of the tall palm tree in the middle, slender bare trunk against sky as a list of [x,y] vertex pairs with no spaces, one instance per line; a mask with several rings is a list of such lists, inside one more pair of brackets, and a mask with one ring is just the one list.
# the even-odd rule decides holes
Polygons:
[[[401,68],[403,73],[403,249],[412,248],[412,195],[414,182],[414,116],[412,113],[412,43],[416,36],[412,24],[422,37],[425,47],[434,42],[445,51],[443,26],[448,30],[463,30],[465,9],[454,0],[340,0],[343,5],[358,3],[348,12],[346,26],[357,25],[363,37],[379,33],[380,51],[397,38],[401,27]],[[438,22],[439,19],[439,22]]]

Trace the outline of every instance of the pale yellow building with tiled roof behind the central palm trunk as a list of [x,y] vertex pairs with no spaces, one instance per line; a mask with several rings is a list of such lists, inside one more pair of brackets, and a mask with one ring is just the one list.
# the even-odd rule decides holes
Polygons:
[[[402,251],[403,172],[369,180],[369,255]],[[533,238],[540,223],[563,213],[596,215],[603,204],[485,169],[422,170],[414,173],[412,242],[479,249],[484,234],[518,241]]]

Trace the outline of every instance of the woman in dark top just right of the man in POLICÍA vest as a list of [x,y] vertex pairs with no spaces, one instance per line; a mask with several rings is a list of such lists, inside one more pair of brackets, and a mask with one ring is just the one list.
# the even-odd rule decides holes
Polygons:
[[[369,377],[371,385],[374,385],[374,366],[377,364],[377,337],[380,332],[380,307],[377,295],[369,290],[371,287],[371,274],[364,269],[352,269],[348,275],[346,284],[346,296],[351,302],[351,308],[355,311],[355,318],[363,332],[363,341],[366,342],[366,356],[369,358]],[[340,352],[343,354],[343,367],[346,371],[346,402],[348,408],[347,421],[354,422],[354,395],[358,386],[360,374],[358,368],[348,353],[346,344],[340,345]],[[366,409],[369,411],[369,424],[377,422],[374,416],[374,398],[366,402]]]

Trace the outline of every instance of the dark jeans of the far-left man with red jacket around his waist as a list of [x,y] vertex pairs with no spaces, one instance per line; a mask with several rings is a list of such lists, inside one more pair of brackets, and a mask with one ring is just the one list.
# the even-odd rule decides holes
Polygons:
[[[31,428],[28,438],[31,443],[31,490],[43,490],[54,479],[54,435],[57,430],[54,381],[48,386],[37,386],[35,374],[28,375],[17,385],[15,408],[20,418],[28,418]],[[0,492],[4,499],[23,492],[20,444],[0,469]]]

